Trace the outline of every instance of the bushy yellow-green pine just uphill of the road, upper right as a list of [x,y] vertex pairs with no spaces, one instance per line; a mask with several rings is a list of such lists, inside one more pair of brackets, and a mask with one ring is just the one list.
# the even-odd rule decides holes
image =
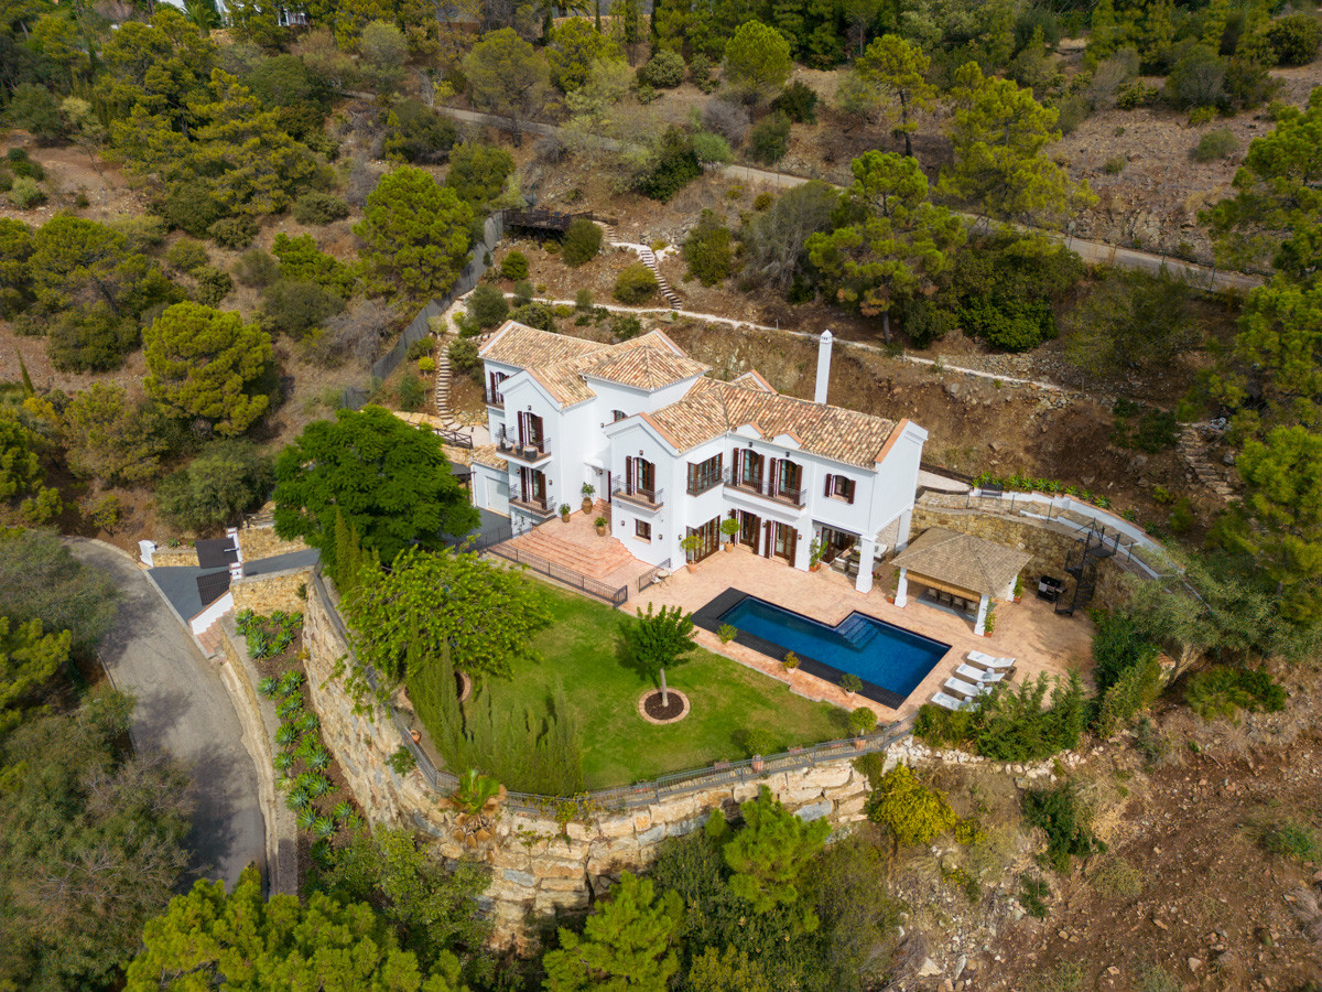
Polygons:
[[1043,151],[1060,140],[1058,112],[1010,79],[985,78],[976,62],[956,71],[949,134],[954,163],[941,169],[939,189],[974,204],[995,220],[1059,214],[1092,197],[1076,192],[1066,171]]

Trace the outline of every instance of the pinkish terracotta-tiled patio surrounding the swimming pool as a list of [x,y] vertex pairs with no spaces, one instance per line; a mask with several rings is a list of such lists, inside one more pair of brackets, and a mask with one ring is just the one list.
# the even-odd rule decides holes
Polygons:
[[[787,610],[814,620],[836,624],[855,610],[898,627],[933,638],[951,645],[936,668],[910,693],[898,709],[855,696],[846,697],[839,686],[806,672],[785,672],[783,665],[739,644],[722,644],[707,631],[698,631],[698,641],[711,651],[732,657],[767,675],[788,681],[810,698],[826,700],[841,706],[870,705],[883,721],[903,720],[932,698],[969,651],[1018,659],[1015,682],[1036,679],[1039,673],[1064,676],[1071,671],[1085,675],[1092,667],[1092,622],[1083,614],[1058,616],[1051,603],[1026,595],[1019,603],[1001,603],[995,612],[995,631],[990,638],[973,634],[973,622],[917,602],[916,589],[910,590],[903,610],[887,602],[894,591],[894,570],[878,578],[873,591],[863,594],[851,579],[828,567],[816,573],[797,571],[781,561],[761,558],[746,548],[718,552],[699,562],[695,571],[681,567],[670,578],[649,587],[637,599],[657,606],[680,606],[695,611],[727,589],[742,589]],[[629,608],[635,606],[629,603]]]

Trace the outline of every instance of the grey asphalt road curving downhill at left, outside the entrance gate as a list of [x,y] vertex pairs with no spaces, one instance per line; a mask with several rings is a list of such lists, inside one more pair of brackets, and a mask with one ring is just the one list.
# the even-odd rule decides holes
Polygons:
[[108,571],[123,599],[100,659],[111,682],[137,698],[130,735],[139,753],[164,749],[193,776],[193,827],[186,844],[197,878],[223,878],[256,864],[266,876],[266,825],[256,768],[239,718],[208,661],[151,582],[119,549],[69,538],[74,556]]

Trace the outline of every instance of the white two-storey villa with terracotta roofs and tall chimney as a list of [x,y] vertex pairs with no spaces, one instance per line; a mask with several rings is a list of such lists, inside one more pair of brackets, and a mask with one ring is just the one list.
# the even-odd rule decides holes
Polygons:
[[806,570],[908,544],[927,431],[826,403],[832,336],[818,347],[816,399],[780,395],[756,372],[709,377],[660,331],[615,345],[508,321],[481,348],[490,446],[472,458],[473,503],[516,533],[578,508],[583,487],[611,504],[611,534],[650,565],[736,540]]

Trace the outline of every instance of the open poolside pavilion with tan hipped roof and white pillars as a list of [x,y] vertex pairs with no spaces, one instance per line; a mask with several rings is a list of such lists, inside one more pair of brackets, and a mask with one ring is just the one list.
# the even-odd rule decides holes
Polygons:
[[973,618],[973,632],[986,632],[988,607],[1014,597],[1014,583],[1032,556],[973,534],[933,526],[891,562],[899,569],[895,606],[908,603],[908,582],[923,586],[919,599]]

